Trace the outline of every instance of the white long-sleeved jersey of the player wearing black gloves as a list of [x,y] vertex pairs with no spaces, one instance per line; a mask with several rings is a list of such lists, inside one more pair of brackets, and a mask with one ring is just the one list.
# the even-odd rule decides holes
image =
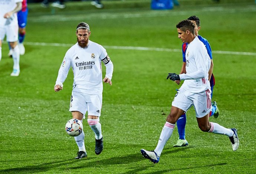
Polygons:
[[210,88],[208,72],[211,59],[206,47],[198,37],[188,44],[186,50],[186,74],[180,74],[180,79],[185,80],[182,89],[193,93],[200,93]]

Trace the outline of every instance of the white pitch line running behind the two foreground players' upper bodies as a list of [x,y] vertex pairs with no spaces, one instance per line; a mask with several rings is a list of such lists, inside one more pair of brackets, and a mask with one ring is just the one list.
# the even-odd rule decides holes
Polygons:
[[[71,47],[74,44],[71,44],[71,43],[24,42],[24,45]],[[106,46],[106,45],[103,47],[106,49],[119,49],[119,50],[181,52],[181,49],[171,49],[171,48],[152,48],[152,47],[135,47],[135,46]],[[253,52],[213,51],[213,53],[214,54],[225,54],[225,55],[256,56],[256,53],[253,53]]]

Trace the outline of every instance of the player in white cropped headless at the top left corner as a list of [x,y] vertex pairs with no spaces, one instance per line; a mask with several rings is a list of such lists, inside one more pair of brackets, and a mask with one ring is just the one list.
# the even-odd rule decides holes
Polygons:
[[22,9],[22,0],[0,0],[0,60],[2,58],[2,41],[10,42],[13,51],[13,72],[11,76],[20,74],[20,49],[18,46],[17,12]]

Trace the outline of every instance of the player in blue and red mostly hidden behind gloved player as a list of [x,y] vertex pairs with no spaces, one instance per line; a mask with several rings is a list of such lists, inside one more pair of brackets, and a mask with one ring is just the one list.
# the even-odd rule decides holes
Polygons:
[[[193,22],[195,24],[195,35],[198,37],[198,39],[203,42],[204,46],[207,49],[207,53],[211,59],[211,66],[210,66],[210,70],[209,70],[209,81],[210,81],[210,86],[211,86],[211,98],[213,96],[213,87],[215,85],[215,79],[213,76],[213,56],[211,53],[211,46],[209,44],[209,42],[204,39],[202,36],[198,35],[198,31],[201,29],[200,27],[200,19],[197,16],[190,16],[188,18],[188,20],[191,20],[191,22]],[[182,54],[183,54],[183,65],[181,68],[181,72],[182,73],[186,73],[186,50],[187,50],[187,46],[188,43],[183,43],[182,44]],[[178,85],[180,84],[180,81],[175,81]],[[211,102],[212,108],[211,108],[211,112],[209,114],[209,116],[214,116],[214,118],[218,118],[219,116],[219,108],[217,107],[217,103]],[[179,138],[176,144],[173,145],[173,147],[183,147],[183,146],[187,146],[188,142],[185,139],[185,127],[186,127],[186,120],[187,120],[187,116],[186,116],[186,112],[184,112],[184,114],[182,114],[180,116],[180,118],[177,120],[177,128],[178,128],[178,134],[179,134]]]

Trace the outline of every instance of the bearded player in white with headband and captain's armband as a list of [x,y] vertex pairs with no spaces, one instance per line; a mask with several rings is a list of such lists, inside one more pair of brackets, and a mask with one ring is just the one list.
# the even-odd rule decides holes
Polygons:
[[[66,52],[59,69],[54,91],[62,90],[63,82],[70,67],[72,67],[74,82],[69,111],[71,111],[73,118],[79,119],[81,122],[88,112],[87,122],[95,133],[95,154],[99,155],[103,150],[103,137],[99,122],[103,90],[101,62],[106,66],[103,82],[109,83],[109,85],[112,85],[111,78],[114,66],[104,47],[89,40],[90,35],[89,25],[84,22],[79,23],[76,27],[77,43]],[[75,137],[79,148],[75,159],[87,157],[84,138],[84,132]]]

